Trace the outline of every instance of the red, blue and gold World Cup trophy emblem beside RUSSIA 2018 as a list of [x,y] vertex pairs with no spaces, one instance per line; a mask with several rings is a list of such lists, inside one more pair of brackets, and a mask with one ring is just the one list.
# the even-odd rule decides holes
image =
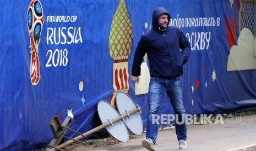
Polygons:
[[40,3],[40,1],[32,0],[30,2],[27,13],[27,20],[30,37],[29,48],[31,48],[30,78],[32,85],[37,85],[40,80],[40,62],[38,56],[38,48],[44,21],[42,4]]

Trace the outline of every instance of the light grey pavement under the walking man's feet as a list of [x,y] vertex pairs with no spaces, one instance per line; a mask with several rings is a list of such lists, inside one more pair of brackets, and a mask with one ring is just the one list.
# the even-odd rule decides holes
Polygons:
[[[233,150],[256,144],[256,115],[223,119],[224,124],[188,125],[189,150]],[[93,150],[146,150],[141,146],[145,135],[104,149]],[[156,150],[179,150],[175,129],[159,131]]]

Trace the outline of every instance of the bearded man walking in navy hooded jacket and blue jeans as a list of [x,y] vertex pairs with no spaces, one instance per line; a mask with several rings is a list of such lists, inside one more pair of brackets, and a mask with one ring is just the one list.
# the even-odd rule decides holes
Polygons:
[[[152,14],[152,29],[141,36],[135,51],[130,78],[139,83],[140,65],[147,53],[150,65],[149,114],[146,127],[146,139],[143,147],[155,150],[159,125],[153,117],[159,115],[165,92],[175,111],[176,135],[179,149],[187,148],[186,111],[182,100],[183,65],[190,56],[190,43],[184,33],[176,26],[168,26],[170,14],[164,8],[155,8]],[[184,121],[181,123],[181,121]]]

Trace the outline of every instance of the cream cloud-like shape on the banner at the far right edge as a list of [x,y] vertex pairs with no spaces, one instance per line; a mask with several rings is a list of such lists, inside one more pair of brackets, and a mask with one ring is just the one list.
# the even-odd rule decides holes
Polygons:
[[227,71],[256,69],[256,38],[248,28],[241,31],[237,45],[230,49]]

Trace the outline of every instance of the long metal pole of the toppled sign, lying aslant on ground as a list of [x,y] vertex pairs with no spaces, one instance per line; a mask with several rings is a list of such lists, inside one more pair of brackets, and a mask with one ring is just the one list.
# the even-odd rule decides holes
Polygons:
[[[83,133],[83,136],[81,136],[81,135],[80,135],[80,136],[77,136],[77,137],[73,138],[73,140],[69,140],[69,141],[64,142],[64,143],[62,143],[62,144],[59,144],[59,145],[56,146],[55,148],[62,149],[62,148],[64,148],[64,147],[66,147],[66,146],[68,146],[68,145],[74,143],[74,142],[75,142],[74,140],[78,141],[78,140],[80,140],[81,138],[84,138],[84,136],[88,136],[88,135],[91,135],[92,133],[95,133],[95,132],[97,132],[97,131],[99,131],[99,130],[102,130],[102,129],[104,129],[105,127],[111,125],[111,122],[112,122],[112,123],[116,123],[117,121],[119,121],[119,120],[121,120],[121,119],[123,119],[123,118],[128,117],[129,114],[134,114],[134,113],[138,112],[139,109],[140,109],[139,107],[134,108],[134,109],[132,109],[131,111],[129,111],[128,113],[124,113],[123,115],[120,115],[119,117],[117,117],[117,118],[115,118],[115,119],[112,119],[111,121],[108,121],[107,123],[104,123],[104,124],[102,124],[102,125],[100,125],[100,126],[95,127],[94,129],[92,129],[92,130],[90,130],[90,131],[88,131],[88,132]],[[48,151],[53,151],[53,150],[55,150],[55,148],[48,149]]]

